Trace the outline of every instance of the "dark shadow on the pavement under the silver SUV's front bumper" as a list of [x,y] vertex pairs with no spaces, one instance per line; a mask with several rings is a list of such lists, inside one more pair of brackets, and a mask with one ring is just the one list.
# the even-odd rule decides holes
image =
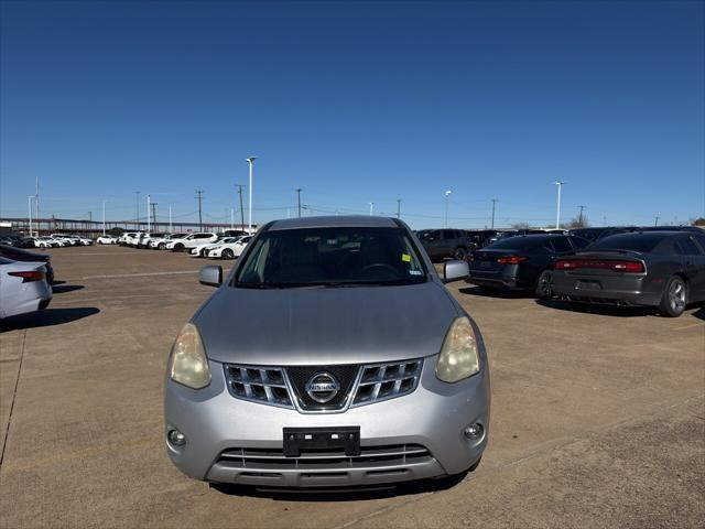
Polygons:
[[283,501],[361,501],[369,499],[394,498],[406,495],[435,493],[447,490],[463,482],[466,474],[445,477],[441,479],[425,479],[420,482],[402,483],[399,485],[377,485],[369,487],[341,487],[341,488],[254,488],[245,485],[215,484],[209,486],[214,490],[228,496],[248,496],[269,498]]

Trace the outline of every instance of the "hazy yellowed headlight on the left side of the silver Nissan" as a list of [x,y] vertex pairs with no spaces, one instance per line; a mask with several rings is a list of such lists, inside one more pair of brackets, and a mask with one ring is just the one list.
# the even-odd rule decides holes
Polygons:
[[208,358],[200,342],[198,330],[192,323],[184,325],[172,347],[169,373],[175,382],[193,389],[210,384]]

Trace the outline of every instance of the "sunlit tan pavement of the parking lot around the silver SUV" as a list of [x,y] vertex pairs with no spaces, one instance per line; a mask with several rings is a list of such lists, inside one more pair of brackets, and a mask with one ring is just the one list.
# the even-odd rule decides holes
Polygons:
[[[680,319],[454,295],[480,325],[490,443],[451,487],[243,495],[184,477],[162,440],[171,343],[213,292],[203,260],[52,250],[43,313],[0,323],[0,526],[702,527],[705,309]],[[230,261],[225,261],[227,267]],[[273,330],[275,332],[275,330]]]

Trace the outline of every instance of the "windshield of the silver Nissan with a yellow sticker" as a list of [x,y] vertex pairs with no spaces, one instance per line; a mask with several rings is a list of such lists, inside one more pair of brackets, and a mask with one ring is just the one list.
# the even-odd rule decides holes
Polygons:
[[426,270],[401,228],[305,228],[261,234],[235,287],[409,284]]

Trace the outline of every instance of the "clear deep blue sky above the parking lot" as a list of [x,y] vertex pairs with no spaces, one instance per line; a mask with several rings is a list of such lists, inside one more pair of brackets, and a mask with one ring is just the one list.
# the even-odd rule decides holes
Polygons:
[[[705,3],[0,4],[0,216],[238,209],[412,227],[705,209]],[[144,215],[144,203],[140,206]],[[289,208],[289,209],[288,209]],[[239,213],[236,213],[239,217]]]

